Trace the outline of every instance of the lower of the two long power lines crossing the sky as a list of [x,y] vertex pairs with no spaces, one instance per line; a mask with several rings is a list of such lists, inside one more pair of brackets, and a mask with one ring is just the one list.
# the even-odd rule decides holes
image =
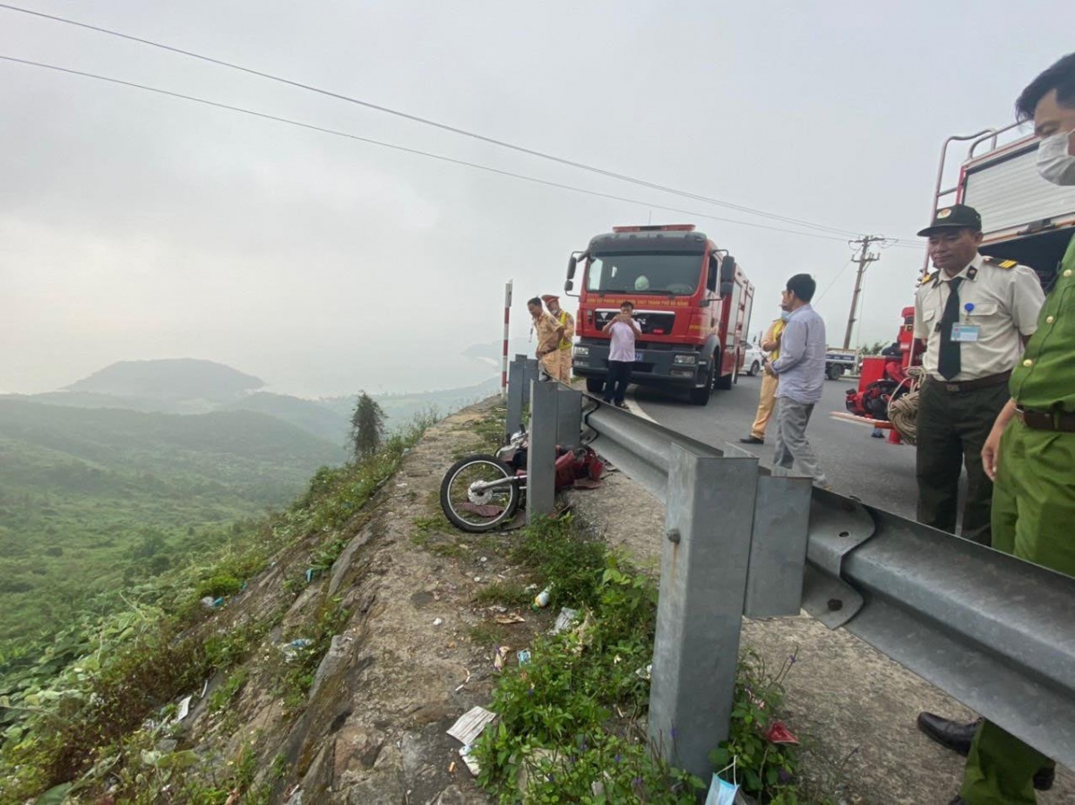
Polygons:
[[0,55],[0,60],[10,61],[17,64],[25,64],[28,67],[38,67],[45,70],[53,70],[60,73],[66,73],[68,75],[78,75],[84,78],[94,78],[95,81],[103,81],[110,84],[118,84],[120,86],[130,87],[132,89],[141,89],[147,92],[154,92],[156,95],[167,96],[169,98],[177,98],[184,101],[191,101],[194,103],[200,103],[206,106],[213,106],[215,109],[226,110],[228,112],[239,112],[244,115],[250,115],[253,117],[259,117],[264,120],[272,120],[274,123],[282,123],[288,126],[297,126],[302,129],[309,129],[311,131],[318,131],[324,134],[332,134],[334,136],[342,136],[348,140],[356,140],[361,143],[367,143],[369,145],[376,145],[382,148],[390,148],[392,150],[402,152],[404,154],[413,154],[415,156],[427,157],[429,159],[436,159],[442,162],[449,162],[452,164],[462,166],[464,168],[473,168],[479,171],[486,171],[488,173],[494,173],[501,176],[507,176],[510,178],[517,178],[524,182],[532,182],[533,184],[544,185],[546,187],[555,187],[561,190],[570,190],[571,192],[578,192],[585,196],[594,196],[602,199],[611,199],[613,201],[624,201],[629,204],[639,204],[642,206],[649,206],[654,210],[664,210],[672,213],[679,213],[682,215],[690,215],[697,218],[706,218],[710,220],[719,220],[726,224],[735,224],[743,227],[754,227],[756,229],[765,229],[773,232],[784,232],[787,234],[800,235],[802,238],[820,238],[827,241],[844,241],[843,238],[837,238],[835,235],[822,234],[820,232],[799,232],[793,229],[784,229],[782,227],[773,227],[766,224],[755,224],[754,221],[736,220],[735,218],[722,218],[717,215],[710,215],[708,213],[699,213],[692,210],[682,210],[674,206],[666,206],[663,204],[654,204],[653,202],[645,201],[643,199],[631,199],[624,196],[616,196],[614,193],[600,192],[598,190],[588,190],[583,187],[575,187],[573,185],[564,185],[558,182],[549,182],[547,179],[538,178],[536,176],[527,176],[522,173],[513,173],[512,171],[505,171],[500,168],[492,168],[490,166],[481,164],[478,162],[468,162],[463,159],[455,159],[454,157],[446,157],[442,154],[433,154],[431,152],[419,150],[418,148],[408,148],[404,145],[396,145],[395,143],[386,143],[381,140],[373,140],[371,138],[361,136],[359,134],[352,134],[347,131],[340,131],[338,129],[329,129],[322,126],[316,126],[314,124],[303,123],[301,120],[295,120],[288,117],[280,117],[277,115],[271,115],[266,112],[257,112],[255,110],[243,109],[242,106],[233,106],[228,103],[219,103],[218,101],[211,101],[205,98],[198,98],[196,96],[183,95],[182,92],[173,92],[169,89],[160,89],[159,87],[152,87],[146,84],[137,84],[130,81],[124,81],[123,78],[113,78],[108,75],[99,75],[97,73],[88,73],[82,70],[73,70],[71,68],[59,67],[57,64],[47,64],[42,61],[31,61],[29,59],[19,59],[14,56],[3,56]]

